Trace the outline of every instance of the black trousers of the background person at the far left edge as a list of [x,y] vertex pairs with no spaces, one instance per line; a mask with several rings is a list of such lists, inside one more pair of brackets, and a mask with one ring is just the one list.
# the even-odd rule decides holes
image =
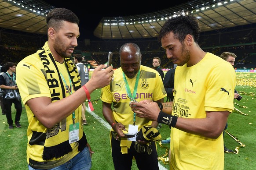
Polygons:
[[4,99],[4,109],[6,111],[6,118],[7,123],[9,125],[13,124],[13,120],[11,118],[11,105],[14,103],[15,109],[16,109],[16,115],[15,115],[15,122],[18,122],[21,117],[22,113],[22,103],[21,100],[18,101],[17,99]]

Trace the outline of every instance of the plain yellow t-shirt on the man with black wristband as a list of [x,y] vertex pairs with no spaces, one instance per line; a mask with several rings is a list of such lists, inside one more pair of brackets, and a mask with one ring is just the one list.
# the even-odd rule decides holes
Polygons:
[[[232,113],[236,75],[227,61],[212,53],[192,67],[187,64],[175,71],[172,115],[205,118],[205,111]],[[217,139],[171,129],[170,169],[223,170],[223,135]]]

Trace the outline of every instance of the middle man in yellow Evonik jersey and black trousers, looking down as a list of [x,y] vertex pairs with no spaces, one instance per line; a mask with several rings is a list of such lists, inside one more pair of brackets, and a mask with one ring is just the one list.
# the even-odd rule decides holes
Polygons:
[[[110,85],[101,89],[100,97],[103,116],[112,127],[110,145],[115,170],[130,170],[133,156],[139,170],[158,170],[156,142],[136,142],[136,136],[128,138],[124,131],[135,133],[143,126],[157,127],[156,121],[135,116],[127,96],[138,101],[150,99],[163,102],[166,96],[163,82],[157,71],[141,65],[140,49],[135,43],[122,45],[119,55],[121,67],[114,71],[114,80]],[[141,150],[135,149],[141,144]]]

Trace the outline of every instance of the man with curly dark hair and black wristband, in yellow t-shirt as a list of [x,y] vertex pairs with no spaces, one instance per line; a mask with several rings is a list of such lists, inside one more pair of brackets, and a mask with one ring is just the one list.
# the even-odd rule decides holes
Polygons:
[[199,35],[194,16],[176,13],[168,19],[158,40],[167,58],[178,65],[173,103],[130,104],[137,117],[171,128],[170,170],[224,169],[222,134],[234,109],[236,74],[226,61],[201,49]]

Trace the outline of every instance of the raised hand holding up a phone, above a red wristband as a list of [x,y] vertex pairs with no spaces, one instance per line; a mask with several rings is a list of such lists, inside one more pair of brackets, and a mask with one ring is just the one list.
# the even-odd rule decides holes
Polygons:
[[94,69],[91,75],[91,79],[89,81],[91,81],[90,83],[93,83],[95,89],[100,89],[102,87],[105,87],[106,85],[109,85],[110,81],[112,80],[111,76],[114,74],[114,71],[112,70],[113,67],[110,66],[106,68],[106,66],[106,64],[99,65],[97,68]]

